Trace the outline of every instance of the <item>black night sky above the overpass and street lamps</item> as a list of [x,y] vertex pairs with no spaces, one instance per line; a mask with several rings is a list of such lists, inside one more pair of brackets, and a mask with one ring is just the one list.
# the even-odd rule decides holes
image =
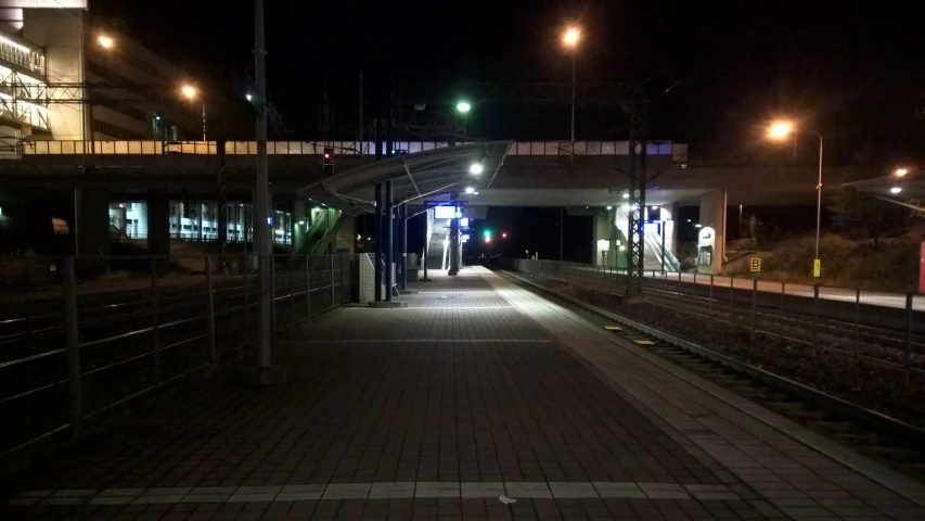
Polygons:
[[[215,85],[253,63],[249,0],[95,0],[140,40]],[[908,3],[907,3],[908,5]],[[780,155],[759,138],[774,114],[799,117],[834,161],[909,162],[925,150],[925,46],[899,2],[283,1],[267,0],[269,86],[287,128],[318,131],[322,78],[350,101],[367,81],[567,81],[563,27],[583,27],[579,81],[635,81],[651,137],[730,161]],[[230,90],[230,88],[229,88]],[[667,91],[667,92],[666,92]],[[451,96],[451,94],[450,94]],[[352,132],[354,104],[337,109]],[[529,114],[528,114],[529,113]],[[476,107],[481,138],[567,138],[565,106]],[[617,112],[580,107],[578,137],[625,138]],[[808,141],[808,160],[814,145]]]

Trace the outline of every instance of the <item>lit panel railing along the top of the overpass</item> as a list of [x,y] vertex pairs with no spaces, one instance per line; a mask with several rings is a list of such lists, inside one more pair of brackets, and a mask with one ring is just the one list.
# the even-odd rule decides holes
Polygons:
[[[467,144],[467,143],[459,143]],[[448,142],[397,141],[393,150],[398,153],[417,153],[449,147]],[[95,155],[217,155],[220,144],[217,141],[23,141],[14,145],[18,155],[82,155],[83,151]],[[324,149],[333,149],[336,156],[374,155],[373,141],[268,141],[269,155],[321,155]],[[226,155],[254,155],[256,141],[226,141]],[[383,153],[387,154],[385,143]],[[569,141],[518,141],[511,144],[509,155],[571,155]],[[628,141],[576,141],[575,155],[628,155]],[[646,145],[647,155],[670,155],[677,161],[686,158],[688,145],[670,141],[651,141]]]

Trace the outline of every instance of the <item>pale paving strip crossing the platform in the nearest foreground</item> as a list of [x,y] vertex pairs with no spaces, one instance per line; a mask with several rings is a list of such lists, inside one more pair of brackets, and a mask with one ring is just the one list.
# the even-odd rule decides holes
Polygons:
[[330,483],[285,486],[180,486],[27,491],[7,501],[11,506],[154,505],[179,503],[266,503],[323,499],[401,498],[641,498],[735,500],[725,485],[635,482],[455,482]]

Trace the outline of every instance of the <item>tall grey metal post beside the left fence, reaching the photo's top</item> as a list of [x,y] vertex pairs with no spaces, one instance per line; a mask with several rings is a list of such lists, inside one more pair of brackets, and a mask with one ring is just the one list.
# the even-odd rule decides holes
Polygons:
[[260,303],[257,334],[257,368],[270,368],[270,238],[267,218],[270,216],[269,173],[267,162],[267,49],[264,33],[264,0],[254,0],[254,56],[257,76],[257,186],[254,213],[254,249],[257,252],[260,275]]

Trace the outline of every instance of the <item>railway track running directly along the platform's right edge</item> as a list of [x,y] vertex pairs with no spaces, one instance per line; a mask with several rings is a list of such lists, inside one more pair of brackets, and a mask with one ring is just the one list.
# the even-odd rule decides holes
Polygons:
[[615,335],[895,470],[925,481],[925,430],[749,366],[519,275],[503,274],[515,283],[552,295],[560,304],[602,328],[618,325],[611,328]]

